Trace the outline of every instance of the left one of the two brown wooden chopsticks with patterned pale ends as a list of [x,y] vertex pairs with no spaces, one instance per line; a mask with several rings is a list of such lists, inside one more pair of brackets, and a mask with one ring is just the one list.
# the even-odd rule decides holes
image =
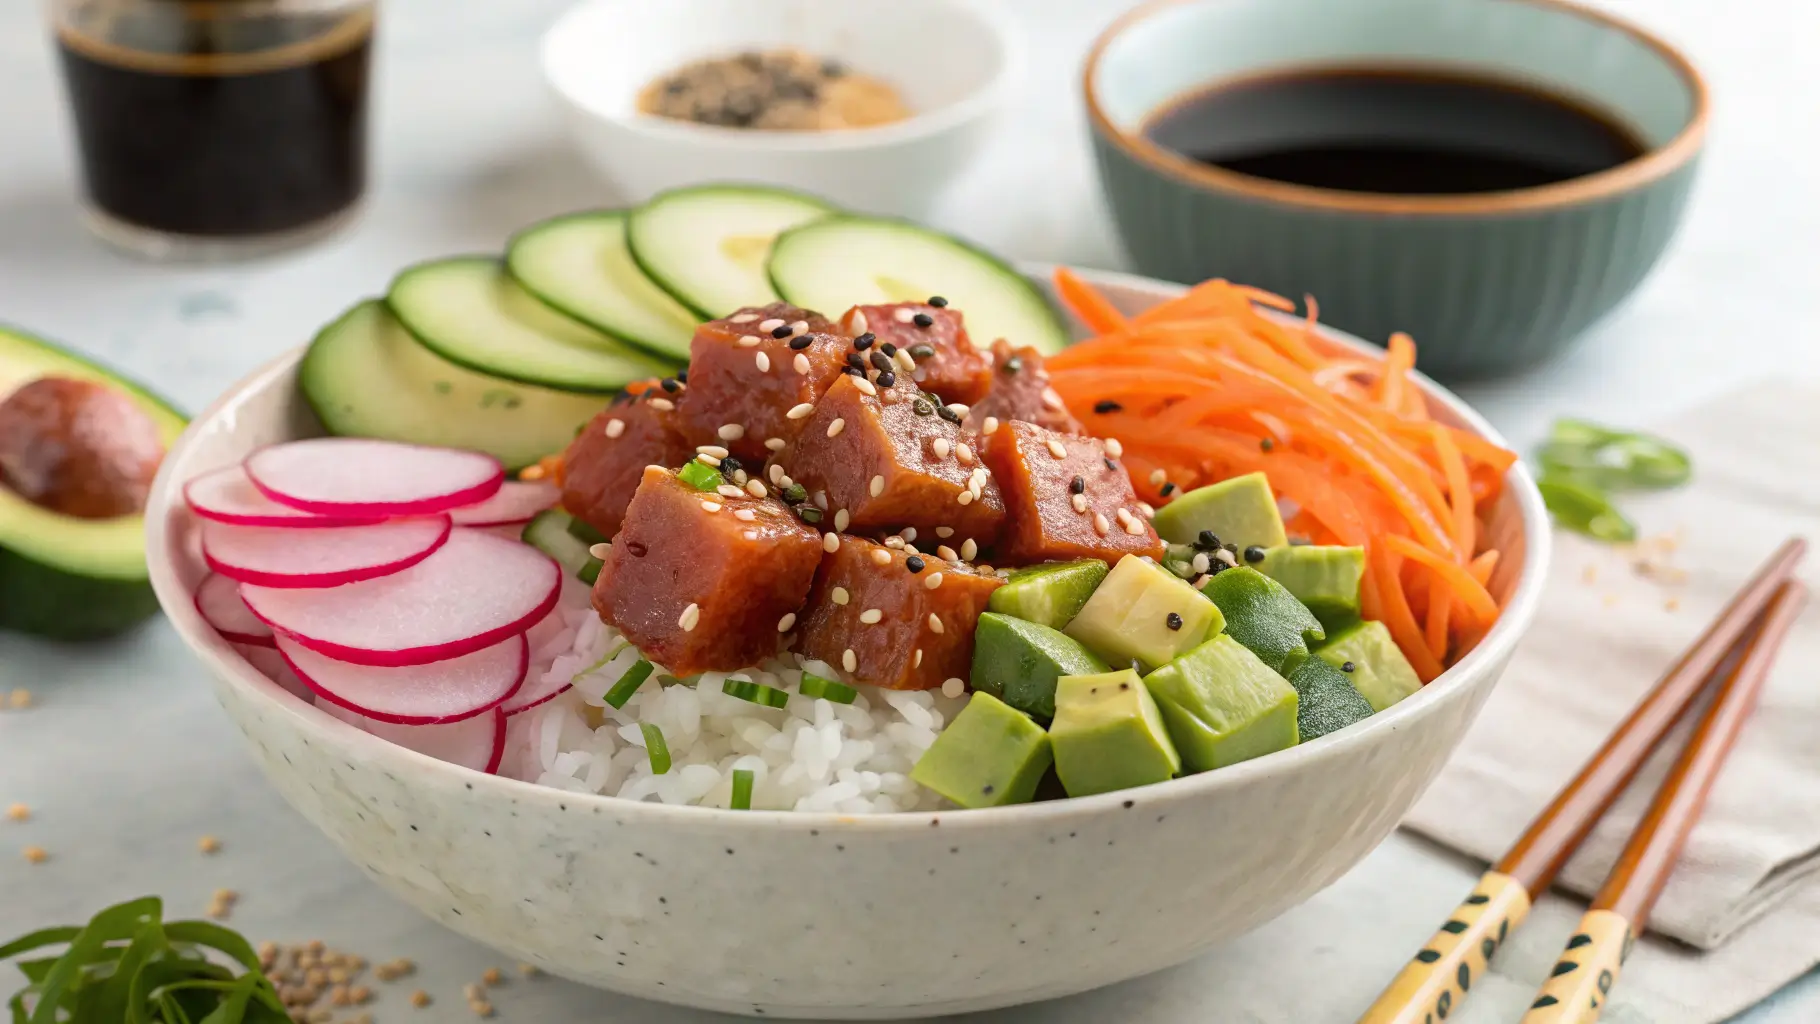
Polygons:
[[1378,1002],[1360,1017],[1360,1024],[1445,1020],[1465,1000],[1472,980],[1485,973],[1492,953],[1529,915],[1534,895],[1554,884],[1567,858],[1636,778],[1649,753],[1702,691],[1776,589],[1789,580],[1805,553],[1807,542],[1798,537],[1776,547],[1705,633],[1669,666],[1636,709],[1605,738],[1605,746],[1592,755],[1592,760],[1536,817],[1503,860],[1480,878],[1472,895],[1383,989]]

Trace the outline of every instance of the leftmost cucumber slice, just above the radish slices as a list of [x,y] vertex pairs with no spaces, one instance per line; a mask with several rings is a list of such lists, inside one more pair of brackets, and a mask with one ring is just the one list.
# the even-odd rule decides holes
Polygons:
[[322,327],[297,384],[329,433],[484,451],[508,469],[562,451],[601,409],[593,395],[455,366],[417,344],[377,300]]

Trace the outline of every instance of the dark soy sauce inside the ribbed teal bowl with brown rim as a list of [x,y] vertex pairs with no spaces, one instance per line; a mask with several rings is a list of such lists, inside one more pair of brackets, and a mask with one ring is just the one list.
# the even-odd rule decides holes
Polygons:
[[1525,84],[1440,69],[1310,69],[1188,95],[1145,129],[1201,164],[1349,193],[1529,189],[1647,151],[1609,115]]

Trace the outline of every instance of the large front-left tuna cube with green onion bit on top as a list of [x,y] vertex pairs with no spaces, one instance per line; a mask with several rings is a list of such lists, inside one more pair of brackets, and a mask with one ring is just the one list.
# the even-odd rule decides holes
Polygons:
[[783,502],[732,484],[697,491],[653,467],[601,566],[593,607],[673,675],[741,669],[777,651],[821,557],[821,535]]

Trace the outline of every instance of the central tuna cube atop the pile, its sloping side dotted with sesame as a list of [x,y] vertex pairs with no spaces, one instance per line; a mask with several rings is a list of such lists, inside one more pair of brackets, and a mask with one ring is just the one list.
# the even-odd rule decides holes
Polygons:
[[835,529],[946,527],[952,544],[981,546],[999,535],[1005,500],[979,438],[934,395],[846,375],[803,424],[777,462],[810,495],[826,495]]

